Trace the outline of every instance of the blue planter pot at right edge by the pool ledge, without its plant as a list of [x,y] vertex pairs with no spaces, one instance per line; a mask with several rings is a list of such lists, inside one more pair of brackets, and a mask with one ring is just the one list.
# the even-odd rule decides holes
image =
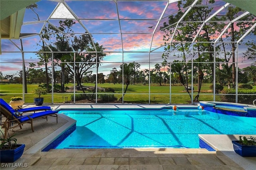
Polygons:
[[240,156],[256,157],[256,146],[245,146],[238,143],[239,141],[232,141],[234,151]]

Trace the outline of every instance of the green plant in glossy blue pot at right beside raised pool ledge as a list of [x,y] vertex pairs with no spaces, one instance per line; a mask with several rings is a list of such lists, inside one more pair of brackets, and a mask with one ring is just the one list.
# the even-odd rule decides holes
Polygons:
[[256,157],[256,137],[240,136],[239,141],[232,141],[234,151],[240,156]]

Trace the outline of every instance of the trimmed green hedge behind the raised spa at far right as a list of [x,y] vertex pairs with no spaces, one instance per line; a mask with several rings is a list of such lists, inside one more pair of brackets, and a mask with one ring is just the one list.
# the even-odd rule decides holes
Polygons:
[[[226,94],[224,97],[226,100],[228,100],[228,102],[236,102],[236,89],[225,89],[222,91],[222,94]],[[256,90],[238,89],[238,103],[252,104],[252,102],[255,100],[255,95]]]

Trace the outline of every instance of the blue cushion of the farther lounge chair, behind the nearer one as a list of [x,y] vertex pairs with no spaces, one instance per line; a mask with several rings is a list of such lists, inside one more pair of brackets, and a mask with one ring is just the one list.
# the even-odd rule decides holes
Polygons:
[[1,106],[5,107],[6,109],[9,109],[13,113],[15,112],[32,112],[34,113],[36,111],[46,111],[46,110],[52,110],[50,106],[38,106],[38,107],[29,107],[29,108],[23,108],[23,109],[13,109],[8,103],[6,103],[3,99],[0,98],[0,104]]

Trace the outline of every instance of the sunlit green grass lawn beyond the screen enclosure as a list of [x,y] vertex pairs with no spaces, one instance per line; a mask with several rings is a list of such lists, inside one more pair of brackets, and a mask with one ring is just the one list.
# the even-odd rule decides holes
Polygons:
[[[84,83],[84,86],[94,86],[92,83]],[[207,101],[213,100],[213,94],[210,90],[211,84],[204,84],[201,88],[199,100]],[[36,88],[38,84],[28,84],[28,94],[25,94],[25,103],[33,103],[34,95],[30,94],[33,88]],[[65,84],[68,87],[74,87],[74,84]],[[98,87],[106,88],[110,87],[115,90],[114,96],[116,98],[122,97],[122,91],[125,90],[126,86],[122,87],[122,84],[98,84]],[[226,88],[226,87],[225,87]],[[255,88],[255,87],[254,87]],[[69,90],[70,91],[70,90]],[[150,91],[150,95],[149,95]],[[76,91],[82,92],[82,90]],[[88,91],[86,91],[87,93]],[[90,92],[88,92],[90,93]],[[99,93],[99,92],[98,92]],[[171,95],[169,95],[171,93]],[[191,91],[190,91],[191,93]],[[62,103],[65,100],[70,101],[71,95],[74,92],[65,92],[65,93],[54,93],[54,103]],[[194,97],[197,95],[197,86],[194,86]],[[0,84],[0,96],[6,102],[10,101],[11,97],[22,96],[22,84]],[[52,102],[52,95],[47,94],[43,95],[44,103]],[[189,104],[191,102],[189,94],[184,91],[183,86],[172,86],[170,91],[170,86],[144,86],[144,85],[132,85],[128,86],[128,90],[124,95],[124,103],[141,103],[148,104],[149,98],[151,104],[168,104],[170,102],[173,104]],[[221,101],[222,95],[216,95],[216,101]]]

